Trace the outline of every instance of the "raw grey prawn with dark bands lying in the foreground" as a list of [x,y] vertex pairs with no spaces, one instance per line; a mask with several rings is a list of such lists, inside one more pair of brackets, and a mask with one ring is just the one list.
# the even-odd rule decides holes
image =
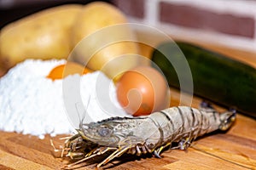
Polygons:
[[[149,116],[111,117],[100,122],[80,123],[78,133],[66,140],[62,152],[78,159],[64,168],[112,152],[96,167],[102,167],[124,153],[141,156],[152,153],[160,158],[166,148],[186,150],[199,136],[216,130],[226,131],[236,120],[236,111],[215,111],[202,103],[201,108],[171,107]],[[172,144],[176,143],[176,146]],[[62,154],[63,156],[63,154]]]

